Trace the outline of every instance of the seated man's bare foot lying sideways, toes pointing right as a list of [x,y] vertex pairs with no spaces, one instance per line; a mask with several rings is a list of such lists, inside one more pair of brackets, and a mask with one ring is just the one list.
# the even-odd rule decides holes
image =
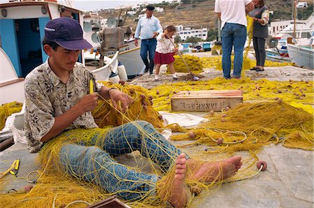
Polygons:
[[188,160],[188,166],[196,171],[193,171],[194,174],[190,179],[201,181],[201,182],[211,182],[211,181],[220,181],[227,179],[241,168],[241,156],[234,156],[228,158],[224,161],[217,162],[196,162],[193,160]]

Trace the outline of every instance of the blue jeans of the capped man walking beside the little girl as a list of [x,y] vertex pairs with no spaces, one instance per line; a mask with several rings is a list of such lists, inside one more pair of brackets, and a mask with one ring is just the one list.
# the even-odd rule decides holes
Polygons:
[[[153,73],[156,44],[156,38],[142,40],[141,42],[141,57],[146,66],[145,72],[149,70],[149,73]],[[147,59],[147,52],[149,53],[149,61]]]

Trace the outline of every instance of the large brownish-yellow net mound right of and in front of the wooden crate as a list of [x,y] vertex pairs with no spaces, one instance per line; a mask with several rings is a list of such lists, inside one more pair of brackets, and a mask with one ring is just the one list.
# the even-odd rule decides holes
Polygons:
[[[285,147],[313,150],[313,114],[282,101],[242,103],[223,114],[208,114],[211,121],[202,128],[172,140],[195,140],[212,151],[257,151],[264,144],[283,143]],[[217,145],[222,138],[223,144]],[[210,148],[209,148],[210,150]]]

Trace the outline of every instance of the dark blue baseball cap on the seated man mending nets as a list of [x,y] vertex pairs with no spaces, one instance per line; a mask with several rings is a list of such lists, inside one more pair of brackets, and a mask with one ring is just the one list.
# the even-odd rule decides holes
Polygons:
[[83,50],[93,47],[83,38],[80,23],[69,17],[60,17],[47,22],[45,38],[58,43],[67,50]]

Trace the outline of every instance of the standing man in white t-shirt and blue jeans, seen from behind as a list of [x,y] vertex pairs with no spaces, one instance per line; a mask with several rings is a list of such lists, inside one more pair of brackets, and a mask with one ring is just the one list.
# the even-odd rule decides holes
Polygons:
[[254,9],[252,0],[216,0],[215,12],[221,20],[223,77],[230,79],[231,52],[234,46],[233,77],[241,77],[243,50],[246,43],[246,12]]

